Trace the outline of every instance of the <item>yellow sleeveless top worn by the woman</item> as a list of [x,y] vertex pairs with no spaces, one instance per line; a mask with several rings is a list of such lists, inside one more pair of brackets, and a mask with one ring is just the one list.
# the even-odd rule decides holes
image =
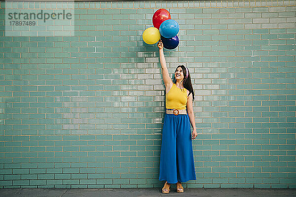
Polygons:
[[186,109],[187,90],[180,89],[174,83],[170,91],[165,96],[165,107],[167,109]]

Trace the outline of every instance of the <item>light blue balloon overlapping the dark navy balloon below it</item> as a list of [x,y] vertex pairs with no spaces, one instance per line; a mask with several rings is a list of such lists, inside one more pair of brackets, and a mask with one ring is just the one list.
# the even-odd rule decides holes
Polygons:
[[175,37],[179,32],[179,24],[173,19],[165,20],[161,23],[159,32],[165,38]]

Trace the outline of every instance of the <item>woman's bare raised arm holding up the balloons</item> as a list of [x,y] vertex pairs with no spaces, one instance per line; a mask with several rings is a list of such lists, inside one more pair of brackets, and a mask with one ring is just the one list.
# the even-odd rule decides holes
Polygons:
[[161,40],[159,40],[159,42],[157,43],[157,46],[159,48],[159,60],[161,65],[162,78],[165,85],[166,93],[168,93],[171,87],[173,86],[173,81],[170,78],[170,74],[166,66],[166,62],[163,54],[163,43]]

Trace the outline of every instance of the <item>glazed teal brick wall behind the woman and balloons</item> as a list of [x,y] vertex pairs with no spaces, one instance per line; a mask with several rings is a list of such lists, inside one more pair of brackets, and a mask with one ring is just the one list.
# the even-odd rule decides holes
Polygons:
[[159,8],[180,24],[169,72],[185,64],[195,90],[184,187],[296,188],[295,0],[2,1],[2,35],[9,8],[71,9],[75,31],[0,37],[0,188],[162,186],[165,92],[142,40]]

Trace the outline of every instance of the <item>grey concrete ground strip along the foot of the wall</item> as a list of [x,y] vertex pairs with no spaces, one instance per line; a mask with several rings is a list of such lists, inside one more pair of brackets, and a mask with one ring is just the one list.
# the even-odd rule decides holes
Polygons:
[[172,188],[169,194],[161,189],[0,189],[0,197],[296,197],[296,189],[187,189],[176,193]]

